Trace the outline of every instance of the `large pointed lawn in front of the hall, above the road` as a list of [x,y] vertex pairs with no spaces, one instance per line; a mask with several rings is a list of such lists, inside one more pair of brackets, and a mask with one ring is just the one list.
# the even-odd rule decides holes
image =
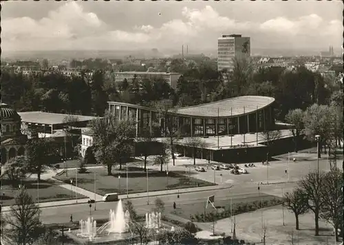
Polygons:
[[[68,176],[75,176],[76,170],[67,170]],[[85,174],[78,174],[78,187],[94,191],[94,173],[96,173],[96,193],[105,195],[107,193],[127,193],[127,174],[124,168],[123,171],[113,170],[112,175],[107,175],[105,167],[89,169]],[[120,176],[120,178],[118,178]],[[181,174],[169,172],[166,177],[166,172],[158,172],[156,170],[149,170],[148,173],[148,189],[149,191],[160,191],[164,189],[181,189],[196,186],[208,186],[213,183],[208,183],[197,178],[189,178]],[[70,177],[65,174],[56,176],[58,180],[69,183]],[[75,181],[74,181],[75,182]],[[128,167],[128,192],[139,193],[147,191],[147,173],[143,172],[142,168]]]

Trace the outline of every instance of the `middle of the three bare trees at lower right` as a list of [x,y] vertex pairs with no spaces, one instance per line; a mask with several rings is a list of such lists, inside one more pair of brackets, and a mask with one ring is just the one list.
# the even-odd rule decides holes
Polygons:
[[299,180],[299,188],[301,193],[307,200],[306,205],[314,213],[315,235],[319,235],[319,215],[323,206],[323,198],[321,198],[321,188],[323,185],[323,172],[310,172],[304,178]]

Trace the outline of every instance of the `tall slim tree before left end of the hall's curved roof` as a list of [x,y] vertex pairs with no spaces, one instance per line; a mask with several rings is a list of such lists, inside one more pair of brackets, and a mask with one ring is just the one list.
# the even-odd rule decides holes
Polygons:
[[155,109],[158,111],[158,118],[164,123],[164,135],[168,138],[166,143],[169,144],[173,165],[175,165],[175,144],[179,140],[179,130],[177,126],[177,119],[173,113],[173,102],[171,100],[161,100],[155,103]]

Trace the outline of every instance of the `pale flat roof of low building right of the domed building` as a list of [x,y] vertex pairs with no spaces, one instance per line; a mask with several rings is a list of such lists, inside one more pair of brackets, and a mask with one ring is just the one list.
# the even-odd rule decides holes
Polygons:
[[[25,111],[18,113],[21,116],[21,121],[31,124],[64,124],[63,120],[68,114],[59,113],[44,113],[42,111]],[[90,121],[97,117],[89,117],[82,115],[73,115],[78,118],[78,121]]]

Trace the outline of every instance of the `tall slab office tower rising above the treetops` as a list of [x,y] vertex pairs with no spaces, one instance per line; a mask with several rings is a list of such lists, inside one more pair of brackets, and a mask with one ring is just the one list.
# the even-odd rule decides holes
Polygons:
[[233,71],[233,58],[250,57],[250,38],[241,34],[218,38],[217,71]]

